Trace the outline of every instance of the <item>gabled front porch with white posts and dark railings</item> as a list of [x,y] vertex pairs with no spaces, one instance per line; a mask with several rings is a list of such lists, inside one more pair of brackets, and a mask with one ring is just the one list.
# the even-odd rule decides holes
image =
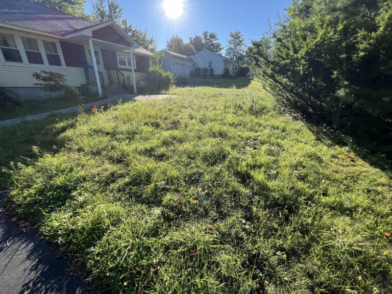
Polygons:
[[[140,79],[141,73],[147,72],[153,54],[141,48],[116,23],[94,25],[65,36],[65,40],[83,48],[86,80],[97,87],[99,96],[108,87],[117,85],[116,89],[125,90],[130,83],[133,93],[137,94],[136,78]],[[140,84],[140,80],[138,82]]]

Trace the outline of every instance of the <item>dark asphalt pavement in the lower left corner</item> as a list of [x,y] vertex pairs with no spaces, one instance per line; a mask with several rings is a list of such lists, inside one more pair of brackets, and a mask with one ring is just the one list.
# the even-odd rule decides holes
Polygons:
[[67,271],[67,261],[58,259],[37,231],[22,233],[7,219],[0,194],[0,293],[84,294],[82,279]]

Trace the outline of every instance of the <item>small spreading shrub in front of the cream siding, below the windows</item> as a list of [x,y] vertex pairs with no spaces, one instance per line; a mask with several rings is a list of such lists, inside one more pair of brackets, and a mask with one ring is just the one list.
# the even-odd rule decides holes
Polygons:
[[62,93],[62,98],[70,101],[81,102],[80,93],[72,86],[67,85],[64,74],[49,71],[33,73],[38,81],[34,85],[42,87],[45,92]]

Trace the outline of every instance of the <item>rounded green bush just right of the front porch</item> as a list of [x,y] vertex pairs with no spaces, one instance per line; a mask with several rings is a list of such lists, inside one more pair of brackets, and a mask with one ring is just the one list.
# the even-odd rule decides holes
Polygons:
[[145,78],[149,93],[160,93],[162,90],[169,90],[174,84],[171,72],[165,72],[161,65],[150,66]]

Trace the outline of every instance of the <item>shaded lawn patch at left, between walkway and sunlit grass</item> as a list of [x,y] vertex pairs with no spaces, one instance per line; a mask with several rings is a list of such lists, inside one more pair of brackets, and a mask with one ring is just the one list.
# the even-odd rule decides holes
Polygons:
[[32,150],[33,146],[46,152],[56,152],[62,147],[58,135],[75,123],[75,113],[53,115],[38,121],[26,121],[0,127],[0,187],[4,188],[7,173],[2,168],[8,168],[10,162],[27,163],[39,155]]

